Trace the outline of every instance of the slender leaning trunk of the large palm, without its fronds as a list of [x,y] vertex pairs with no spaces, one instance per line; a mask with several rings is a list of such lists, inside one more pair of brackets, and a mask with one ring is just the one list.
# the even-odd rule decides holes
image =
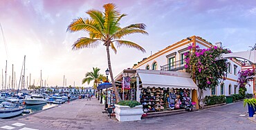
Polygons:
[[112,68],[111,68],[109,45],[108,44],[106,44],[106,49],[107,49],[107,63],[109,65],[109,74],[110,74],[112,85],[113,85],[113,91],[115,92],[115,95],[116,95],[116,103],[118,103],[121,100],[121,98],[118,94],[118,89],[116,88],[116,82],[115,82],[115,80],[113,80],[113,72],[112,72]]

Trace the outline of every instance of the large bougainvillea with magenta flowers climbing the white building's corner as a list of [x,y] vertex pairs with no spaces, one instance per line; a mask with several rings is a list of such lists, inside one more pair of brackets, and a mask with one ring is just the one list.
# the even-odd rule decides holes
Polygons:
[[228,64],[226,60],[218,60],[220,54],[230,53],[221,47],[200,49],[198,45],[188,47],[190,53],[185,54],[185,69],[194,76],[199,89],[212,88],[219,84],[219,79],[226,79]]

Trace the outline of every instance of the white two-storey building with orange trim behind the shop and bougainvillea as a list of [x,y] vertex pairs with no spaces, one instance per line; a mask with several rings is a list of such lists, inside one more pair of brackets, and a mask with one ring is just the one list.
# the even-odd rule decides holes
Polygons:
[[[199,36],[191,36],[187,39],[183,39],[177,43],[174,43],[165,49],[156,52],[148,58],[143,58],[143,61],[135,65],[133,69],[152,69],[152,70],[164,70],[164,71],[181,71],[184,72],[184,54],[189,52],[188,46],[195,43],[199,45],[201,49],[213,47],[212,43],[205,41]],[[221,45],[221,43],[217,43]],[[238,94],[239,88],[237,85],[238,72],[241,70],[241,63],[237,60],[228,59],[228,75],[226,80],[223,81],[221,85],[203,91],[204,96],[212,95],[230,95]]]

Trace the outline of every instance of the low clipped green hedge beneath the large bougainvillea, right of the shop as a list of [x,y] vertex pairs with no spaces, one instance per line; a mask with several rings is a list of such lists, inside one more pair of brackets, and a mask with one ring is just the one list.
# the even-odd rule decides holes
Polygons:
[[226,102],[226,96],[205,96],[206,105],[217,105]]

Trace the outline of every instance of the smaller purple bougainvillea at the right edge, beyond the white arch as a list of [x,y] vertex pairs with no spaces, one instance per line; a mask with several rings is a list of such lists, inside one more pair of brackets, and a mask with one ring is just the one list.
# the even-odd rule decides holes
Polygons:
[[239,87],[246,87],[246,85],[250,84],[248,83],[250,80],[253,79],[253,76],[255,76],[255,69],[246,69],[238,72],[239,78],[237,80],[237,83]]

